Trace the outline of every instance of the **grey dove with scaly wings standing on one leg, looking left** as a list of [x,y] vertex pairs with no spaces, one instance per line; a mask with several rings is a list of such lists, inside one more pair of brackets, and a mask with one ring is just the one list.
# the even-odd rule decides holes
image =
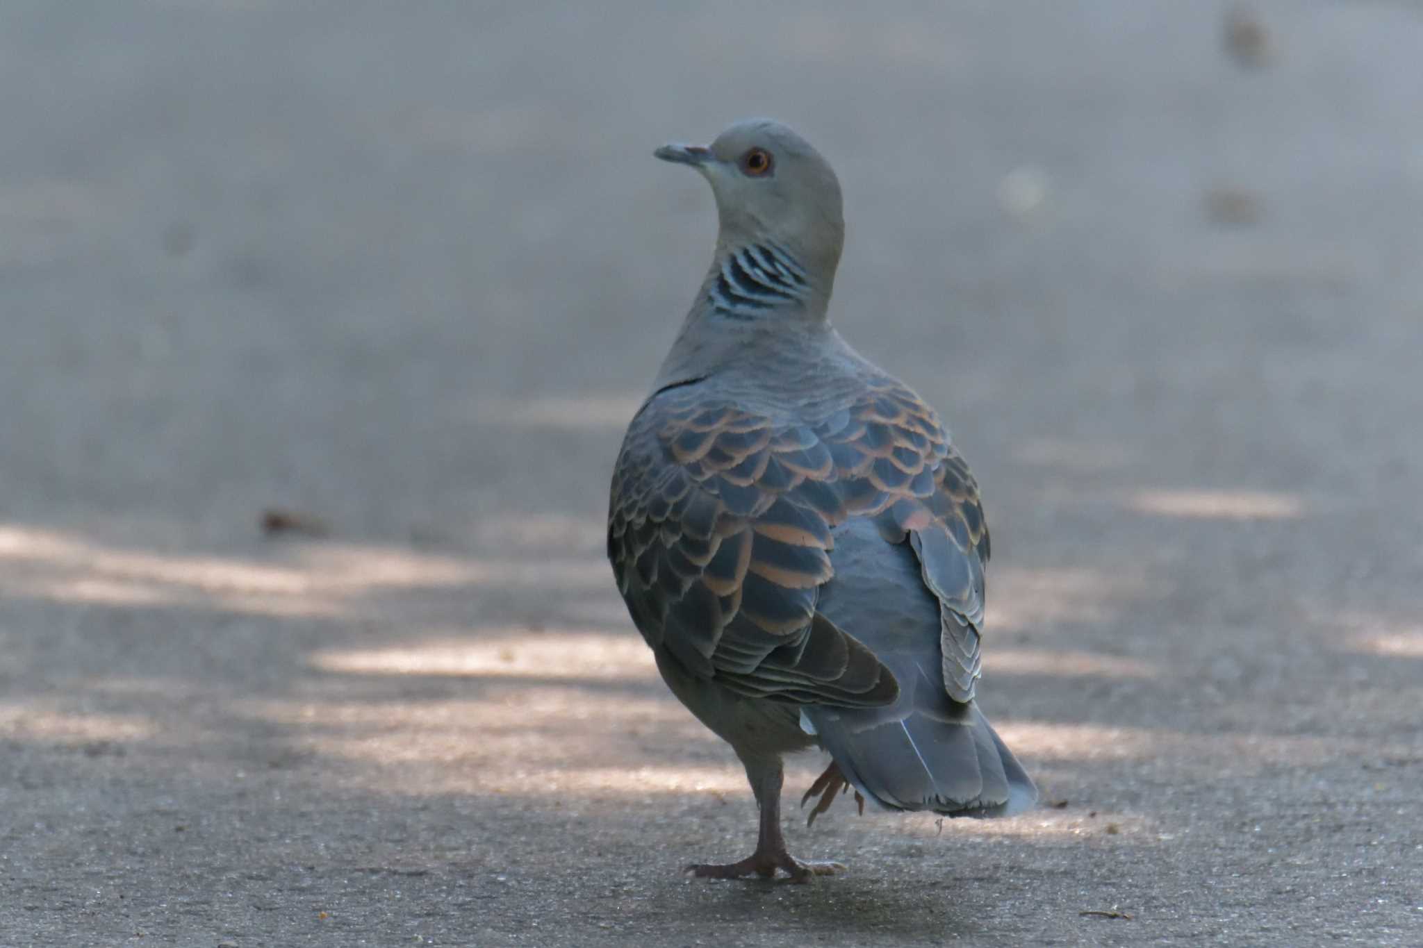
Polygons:
[[784,758],[831,762],[808,816],[852,789],[891,810],[1007,816],[1032,777],[976,704],[989,532],[943,422],[830,325],[840,182],[773,119],[653,152],[710,185],[706,279],[613,468],[608,557],[672,694],[731,745],[757,844],[703,878],[808,881]]

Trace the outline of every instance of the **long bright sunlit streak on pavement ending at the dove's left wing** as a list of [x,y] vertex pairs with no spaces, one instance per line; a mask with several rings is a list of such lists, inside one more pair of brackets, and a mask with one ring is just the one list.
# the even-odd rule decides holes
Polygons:
[[[482,638],[484,635],[481,635]],[[602,632],[509,630],[494,641],[438,640],[398,648],[317,652],[322,671],[360,675],[511,675],[538,678],[642,678],[655,672],[642,637]]]

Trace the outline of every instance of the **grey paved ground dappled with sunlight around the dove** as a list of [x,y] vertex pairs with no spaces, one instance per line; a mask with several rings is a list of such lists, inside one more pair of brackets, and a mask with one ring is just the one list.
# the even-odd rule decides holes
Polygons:
[[[0,944],[1423,942],[1423,11],[559,7],[0,11]],[[677,876],[750,796],[601,551],[713,233],[649,152],[747,114],[1059,804],[814,887]]]

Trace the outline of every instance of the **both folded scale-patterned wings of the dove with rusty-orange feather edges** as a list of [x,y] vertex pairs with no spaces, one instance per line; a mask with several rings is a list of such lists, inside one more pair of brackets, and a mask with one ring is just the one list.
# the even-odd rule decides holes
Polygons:
[[608,554],[647,641],[747,695],[891,704],[894,675],[815,610],[831,527],[872,517],[914,544],[942,607],[949,694],[972,698],[988,533],[932,409],[892,379],[814,424],[700,389],[652,398],[613,472]]

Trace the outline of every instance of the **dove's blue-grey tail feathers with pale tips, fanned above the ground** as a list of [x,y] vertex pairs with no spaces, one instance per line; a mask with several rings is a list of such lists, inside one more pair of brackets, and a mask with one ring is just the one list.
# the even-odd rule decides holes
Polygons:
[[889,809],[1010,816],[1037,800],[1033,780],[973,702],[945,696],[904,716],[813,706],[803,726],[857,790]]

